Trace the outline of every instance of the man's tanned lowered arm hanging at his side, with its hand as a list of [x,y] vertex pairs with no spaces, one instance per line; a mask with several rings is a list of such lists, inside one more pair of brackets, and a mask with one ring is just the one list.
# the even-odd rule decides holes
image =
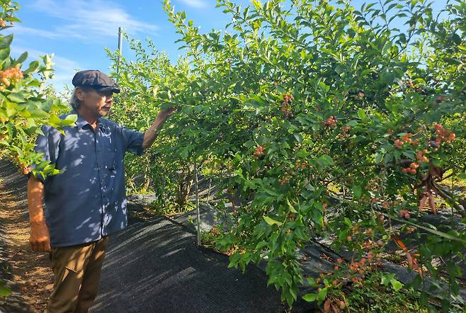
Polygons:
[[33,175],[28,180],[30,246],[34,251],[50,251],[50,234],[43,212],[44,184]]

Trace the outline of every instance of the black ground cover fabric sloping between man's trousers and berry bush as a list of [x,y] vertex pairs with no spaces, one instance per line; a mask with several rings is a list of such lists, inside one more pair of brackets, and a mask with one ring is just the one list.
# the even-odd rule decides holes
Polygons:
[[228,263],[164,217],[135,222],[110,239],[92,312],[280,312],[263,271]]

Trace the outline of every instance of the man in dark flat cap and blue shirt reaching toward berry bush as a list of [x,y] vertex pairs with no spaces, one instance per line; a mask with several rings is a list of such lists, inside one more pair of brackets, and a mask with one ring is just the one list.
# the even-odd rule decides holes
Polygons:
[[62,173],[28,180],[30,244],[35,251],[50,251],[54,289],[48,311],[53,313],[88,311],[108,235],[127,225],[125,152],[142,154],[176,110],[161,110],[145,133],[127,130],[103,118],[113,106],[113,93],[120,92],[113,79],[88,70],[76,73],[72,82],[70,114],[78,115],[76,126],[64,135],[43,127],[36,146]]

